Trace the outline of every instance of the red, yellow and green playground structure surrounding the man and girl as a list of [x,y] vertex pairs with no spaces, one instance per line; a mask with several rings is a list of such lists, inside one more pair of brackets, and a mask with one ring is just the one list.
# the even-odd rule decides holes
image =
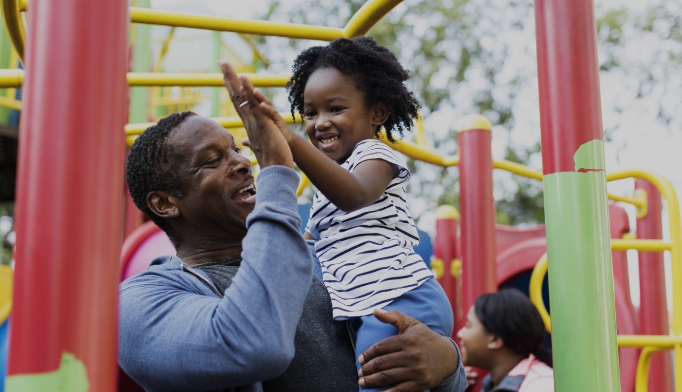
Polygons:
[[[123,231],[121,129],[130,144],[149,125],[146,118],[133,120],[131,111],[130,120],[135,122],[124,127],[126,31],[131,20],[136,26],[151,23],[333,40],[368,33],[398,3],[370,0],[346,27],[336,29],[144,8],[129,12],[128,5],[120,2],[63,0],[57,5],[31,0],[29,6],[25,1],[4,0],[5,25],[27,69],[0,72],[0,87],[25,91],[20,104],[8,102],[14,109],[23,109],[23,120],[7,390],[42,390],[40,386],[54,375],[73,382],[70,390],[74,391],[115,390],[117,278],[121,275],[117,260]],[[28,8],[25,34],[20,12]],[[518,279],[539,259],[531,278],[531,296],[538,305],[542,302],[539,288],[548,264],[554,374],[560,391],[618,391],[621,384],[629,390],[632,382],[636,391],[646,391],[652,354],[672,350],[677,375],[674,390],[682,392],[682,313],[676,311],[682,301],[682,234],[677,195],[656,173],[604,171],[592,1],[536,0],[535,10],[544,173],[493,160],[490,124],[479,117],[459,133],[460,156],[432,152],[420,132],[415,143],[392,145],[412,158],[458,165],[460,170],[462,215],[458,219],[453,210],[440,210],[444,213],[437,224],[432,267],[458,317],[479,294]],[[73,20],[78,20],[78,29]],[[30,38],[26,49],[25,36]],[[93,45],[102,42],[107,43],[106,51]],[[134,46],[134,51],[139,47]],[[59,78],[54,77],[55,68]],[[281,87],[288,80],[288,75],[248,76],[260,87]],[[134,69],[127,81],[130,86],[220,87],[222,75]],[[84,102],[83,97],[98,98]],[[136,107],[134,99],[131,92],[131,108]],[[283,117],[293,120],[291,115]],[[235,116],[214,120],[226,128],[241,126]],[[544,180],[544,229],[499,228],[496,234],[493,169]],[[607,181],[624,178],[638,179],[636,188],[644,192],[636,192],[636,197],[606,194]],[[50,203],[43,200],[46,195]],[[662,240],[661,196],[670,214],[669,242]],[[623,238],[629,230],[615,222],[609,238],[609,216],[615,221],[622,210],[608,206],[607,199],[637,206],[638,239]],[[125,216],[126,227],[131,229],[126,234],[140,223],[129,219],[134,216],[129,206]],[[98,215],[93,219],[95,211]],[[623,222],[627,219],[621,216]],[[461,238],[456,236],[458,224]],[[547,262],[539,257],[544,253],[544,232]],[[629,303],[623,259],[627,249],[644,252],[640,253],[639,318]],[[667,322],[663,251],[669,251],[672,260],[672,330]],[[636,335],[637,331],[642,335]],[[625,374],[632,372],[632,363],[623,363],[632,354],[623,351],[619,377],[617,347],[638,358],[634,381],[632,373]],[[638,353],[634,348],[643,350]],[[670,356],[658,354],[656,361],[656,371],[670,368]],[[672,387],[669,371],[653,376],[651,382],[660,380],[667,384],[651,384],[650,388],[665,391]]]

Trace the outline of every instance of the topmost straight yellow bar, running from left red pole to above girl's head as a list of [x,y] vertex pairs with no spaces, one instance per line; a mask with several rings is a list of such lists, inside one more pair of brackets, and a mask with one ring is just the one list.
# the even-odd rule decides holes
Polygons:
[[190,29],[207,29],[214,31],[233,31],[235,33],[301,38],[304,40],[333,41],[342,36],[342,30],[335,27],[318,27],[297,25],[295,23],[275,23],[267,20],[243,20],[223,18],[220,16],[180,14],[177,12],[149,10],[148,8],[137,7],[130,8],[130,20],[133,23],[146,23],[148,25],[188,27]]

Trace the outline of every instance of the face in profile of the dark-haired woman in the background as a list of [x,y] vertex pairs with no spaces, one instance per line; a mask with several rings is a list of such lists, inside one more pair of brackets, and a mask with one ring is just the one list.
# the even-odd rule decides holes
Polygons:
[[462,363],[487,369],[492,354],[489,346],[495,336],[486,331],[481,320],[476,317],[473,306],[469,308],[469,313],[466,313],[466,324],[457,332],[457,337],[460,339]]

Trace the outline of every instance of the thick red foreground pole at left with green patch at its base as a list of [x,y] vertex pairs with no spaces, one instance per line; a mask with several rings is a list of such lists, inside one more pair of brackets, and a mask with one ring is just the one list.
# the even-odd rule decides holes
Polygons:
[[128,1],[28,17],[7,391],[115,391]]

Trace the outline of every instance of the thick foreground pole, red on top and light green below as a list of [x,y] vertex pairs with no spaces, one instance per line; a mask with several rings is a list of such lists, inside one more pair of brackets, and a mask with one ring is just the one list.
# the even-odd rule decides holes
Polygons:
[[554,385],[620,391],[592,0],[535,0]]

